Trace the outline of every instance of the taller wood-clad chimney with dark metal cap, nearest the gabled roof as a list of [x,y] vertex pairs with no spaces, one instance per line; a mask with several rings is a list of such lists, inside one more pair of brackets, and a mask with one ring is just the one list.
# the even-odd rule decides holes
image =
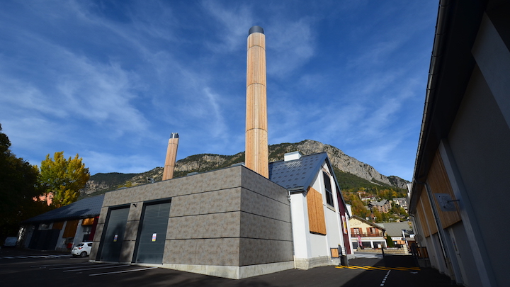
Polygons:
[[269,177],[266,104],[266,36],[253,26],[246,52],[246,167]]

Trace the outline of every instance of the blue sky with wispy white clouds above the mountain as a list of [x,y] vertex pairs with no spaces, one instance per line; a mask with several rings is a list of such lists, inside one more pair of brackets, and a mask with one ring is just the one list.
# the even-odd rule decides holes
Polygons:
[[269,144],[317,140],[411,180],[437,1],[1,1],[0,123],[91,174],[244,150],[246,37],[266,34]]

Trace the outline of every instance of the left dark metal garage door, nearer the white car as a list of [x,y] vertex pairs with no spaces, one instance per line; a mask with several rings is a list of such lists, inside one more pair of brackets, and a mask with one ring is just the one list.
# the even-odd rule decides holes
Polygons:
[[128,222],[129,208],[110,210],[106,231],[103,235],[103,242],[99,260],[118,262],[120,249],[124,240],[125,225]]

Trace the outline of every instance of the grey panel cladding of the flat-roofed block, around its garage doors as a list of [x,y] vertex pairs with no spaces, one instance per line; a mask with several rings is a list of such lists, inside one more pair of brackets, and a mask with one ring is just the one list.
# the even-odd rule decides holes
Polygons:
[[[292,268],[288,191],[242,166],[106,193],[100,218],[111,207],[130,206],[120,261],[136,261],[142,206],[162,198],[171,198],[162,266],[229,278]],[[96,233],[94,241],[104,238]]]

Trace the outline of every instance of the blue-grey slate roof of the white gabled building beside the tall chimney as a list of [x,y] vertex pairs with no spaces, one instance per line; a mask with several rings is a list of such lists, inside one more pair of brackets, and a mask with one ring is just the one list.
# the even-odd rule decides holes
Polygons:
[[317,175],[327,153],[303,155],[300,159],[290,161],[271,162],[269,164],[269,179],[275,184],[288,190],[306,190]]

